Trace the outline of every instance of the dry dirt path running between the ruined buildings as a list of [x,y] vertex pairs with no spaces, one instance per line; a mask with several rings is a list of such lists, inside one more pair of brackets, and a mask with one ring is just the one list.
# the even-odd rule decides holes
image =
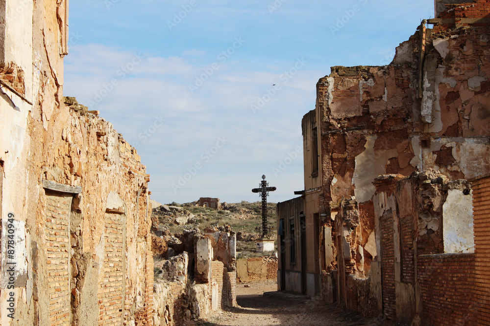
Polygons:
[[[250,287],[245,287],[248,285]],[[276,282],[238,283],[237,303],[239,307],[209,316],[196,323],[201,326],[375,326],[394,325],[362,316],[339,308],[335,304],[324,304],[318,299],[289,295],[277,290]],[[265,292],[265,293],[264,293]],[[188,324],[189,325],[189,324]]]

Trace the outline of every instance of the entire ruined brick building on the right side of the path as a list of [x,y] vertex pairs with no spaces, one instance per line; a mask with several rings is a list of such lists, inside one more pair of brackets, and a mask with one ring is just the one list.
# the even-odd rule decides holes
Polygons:
[[278,285],[369,316],[490,325],[486,189],[471,192],[490,172],[490,1],[435,9],[390,65],[319,80],[305,190],[278,204]]

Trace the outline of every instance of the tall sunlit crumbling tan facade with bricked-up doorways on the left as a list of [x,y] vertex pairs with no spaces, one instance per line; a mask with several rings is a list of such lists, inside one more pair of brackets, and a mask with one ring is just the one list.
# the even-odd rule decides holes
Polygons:
[[152,325],[149,175],[63,97],[68,0],[0,1],[0,20],[0,324]]

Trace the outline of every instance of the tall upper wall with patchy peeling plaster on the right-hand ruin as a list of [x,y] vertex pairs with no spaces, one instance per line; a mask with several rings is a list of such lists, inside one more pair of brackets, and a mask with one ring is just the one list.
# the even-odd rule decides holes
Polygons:
[[423,71],[417,32],[391,65],[332,67],[319,80],[322,187],[334,208],[342,197],[370,200],[384,173],[433,168],[458,179],[490,169],[489,33],[427,29]]

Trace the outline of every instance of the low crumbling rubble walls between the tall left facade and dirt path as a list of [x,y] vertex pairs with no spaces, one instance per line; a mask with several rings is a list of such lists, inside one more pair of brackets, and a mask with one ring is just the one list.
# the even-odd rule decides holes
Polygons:
[[209,227],[155,237],[154,325],[178,326],[236,306],[236,236]]

